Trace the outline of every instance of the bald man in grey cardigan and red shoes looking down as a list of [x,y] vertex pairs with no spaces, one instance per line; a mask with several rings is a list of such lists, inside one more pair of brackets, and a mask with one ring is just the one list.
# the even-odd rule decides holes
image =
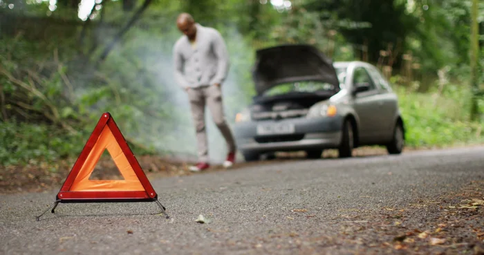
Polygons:
[[187,91],[198,147],[198,164],[190,170],[201,171],[210,167],[205,105],[227,142],[228,154],[223,165],[231,167],[235,161],[236,145],[225,120],[221,91],[230,64],[227,46],[217,30],[195,23],[192,15],[187,13],[178,16],[176,26],[185,36],[176,41],[173,49],[175,79]]

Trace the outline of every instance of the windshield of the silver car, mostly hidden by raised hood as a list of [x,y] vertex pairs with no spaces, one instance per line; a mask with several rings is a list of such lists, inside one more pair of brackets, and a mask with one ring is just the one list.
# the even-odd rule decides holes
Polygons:
[[[344,88],[344,82],[346,79],[346,68],[335,68],[336,75],[339,79],[339,88]],[[263,93],[264,95],[281,95],[286,93],[313,93],[316,91],[331,91],[334,89],[333,84],[327,82],[317,81],[304,81],[304,82],[291,82],[279,84],[270,88]]]

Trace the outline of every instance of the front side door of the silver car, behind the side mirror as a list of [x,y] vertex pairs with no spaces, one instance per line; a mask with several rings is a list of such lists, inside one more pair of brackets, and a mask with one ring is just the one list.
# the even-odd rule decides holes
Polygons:
[[379,140],[382,131],[382,118],[380,117],[380,91],[364,66],[355,66],[353,70],[352,88],[359,83],[369,84],[368,91],[362,91],[353,96],[353,108],[359,118],[359,138],[361,144],[372,144]]

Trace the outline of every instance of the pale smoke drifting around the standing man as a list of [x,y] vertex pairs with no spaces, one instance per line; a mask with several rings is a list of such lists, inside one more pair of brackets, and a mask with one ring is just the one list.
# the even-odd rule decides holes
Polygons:
[[[227,122],[232,131],[236,112],[240,111],[248,104],[248,82],[250,82],[250,55],[251,50],[243,41],[239,32],[231,28],[227,30],[225,38],[230,52],[231,66],[229,75],[222,86],[224,110]],[[170,152],[173,157],[181,160],[196,161],[196,136],[194,122],[192,120],[189,101],[186,92],[178,86],[174,79],[174,66],[172,62],[172,48],[180,37],[178,31],[171,31],[167,35],[143,36],[138,35],[131,39],[131,45],[136,50],[136,57],[141,64],[148,70],[146,75],[151,76],[151,87],[145,86],[151,93],[156,95],[158,100],[152,102],[162,111],[167,111],[169,116],[166,118],[147,118],[140,115],[136,117],[140,126],[137,131],[131,130],[129,135],[134,140],[154,147],[160,153]],[[120,49],[121,50],[121,49]],[[122,54],[122,53],[114,53]],[[218,164],[225,160],[227,154],[226,142],[220,131],[212,120],[212,115],[208,108],[205,109],[205,123],[209,142],[209,155],[212,164]]]

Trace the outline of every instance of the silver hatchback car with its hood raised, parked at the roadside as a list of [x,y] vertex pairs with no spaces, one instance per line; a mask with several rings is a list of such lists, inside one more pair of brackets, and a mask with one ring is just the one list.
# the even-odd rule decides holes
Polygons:
[[313,46],[281,45],[257,50],[252,77],[257,95],[234,126],[246,161],[277,151],[320,158],[324,149],[347,158],[364,145],[402,152],[398,97],[375,66],[332,63]]

